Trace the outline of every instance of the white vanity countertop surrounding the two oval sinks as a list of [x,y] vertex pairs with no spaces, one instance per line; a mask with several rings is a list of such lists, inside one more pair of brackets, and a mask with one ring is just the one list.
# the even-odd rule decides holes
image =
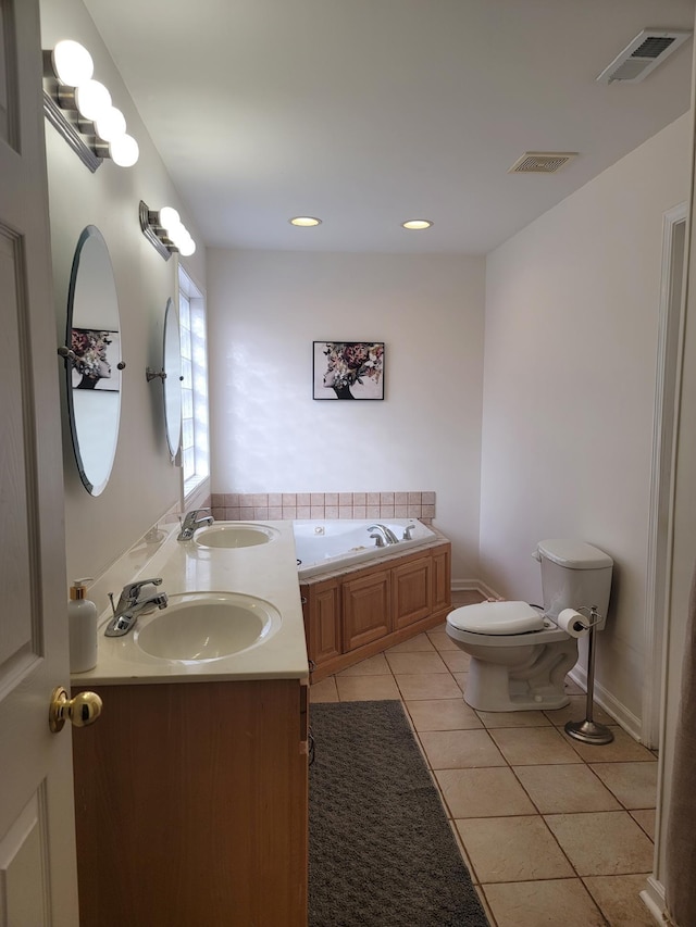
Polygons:
[[[226,523],[215,522],[215,527],[223,524]],[[277,630],[262,642],[229,656],[201,662],[172,661],[151,656],[136,643],[138,625],[145,626],[153,615],[164,616],[166,609],[139,617],[128,634],[112,638],[104,637],[104,628],[112,616],[109,606],[99,617],[97,666],[73,674],[72,685],[307,678],[307,646],[293,523],[245,524],[269,526],[275,529],[275,537],[269,543],[252,547],[212,549],[199,547],[196,540],[177,541],[178,527],[175,527],[161,544],[154,546],[156,552],[150,559],[140,555],[134,561],[132,558],[132,565],[137,562],[137,572],[127,575],[125,580],[123,559],[117,568],[110,571],[112,576],[119,576],[116,588],[113,584],[109,586],[110,577],[104,576],[90,588],[88,596],[100,606],[107,588],[117,600],[124,582],[161,577],[161,586],[149,588],[151,593],[166,592],[173,597],[183,592],[236,592],[261,599],[279,612],[282,621]]]

